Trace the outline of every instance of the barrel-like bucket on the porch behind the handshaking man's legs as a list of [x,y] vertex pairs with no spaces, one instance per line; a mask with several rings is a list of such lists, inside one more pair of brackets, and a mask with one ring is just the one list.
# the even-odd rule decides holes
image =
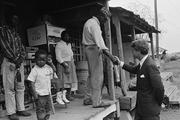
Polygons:
[[76,74],[78,79],[78,92],[83,93],[89,75],[87,61],[76,62]]

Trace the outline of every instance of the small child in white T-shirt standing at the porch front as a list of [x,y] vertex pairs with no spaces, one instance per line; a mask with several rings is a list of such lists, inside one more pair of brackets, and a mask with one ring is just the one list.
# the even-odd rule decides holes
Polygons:
[[52,107],[50,94],[53,69],[46,64],[46,51],[37,51],[35,54],[35,59],[36,65],[31,70],[27,80],[31,82],[31,89],[36,104],[37,119],[49,120]]

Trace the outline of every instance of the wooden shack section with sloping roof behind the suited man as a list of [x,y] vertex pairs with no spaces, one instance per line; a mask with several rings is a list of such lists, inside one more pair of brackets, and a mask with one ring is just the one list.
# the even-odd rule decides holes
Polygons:
[[[146,33],[149,36],[151,46],[151,55],[154,58],[154,43],[153,33],[158,33],[152,25],[146,22],[139,15],[134,14],[132,11],[126,10],[121,7],[111,7],[112,13],[112,52],[117,55],[121,60],[129,64],[136,64],[133,58],[130,44],[136,39],[138,34]],[[128,81],[131,75],[128,72],[121,70],[121,79]]]

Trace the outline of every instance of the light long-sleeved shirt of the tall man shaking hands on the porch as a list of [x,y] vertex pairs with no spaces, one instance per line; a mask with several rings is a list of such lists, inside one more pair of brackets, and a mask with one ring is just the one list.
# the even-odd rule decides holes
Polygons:
[[82,44],[97,45],[100,49],[108,49],[104,43],[97,17],[93,16],[84,24]]

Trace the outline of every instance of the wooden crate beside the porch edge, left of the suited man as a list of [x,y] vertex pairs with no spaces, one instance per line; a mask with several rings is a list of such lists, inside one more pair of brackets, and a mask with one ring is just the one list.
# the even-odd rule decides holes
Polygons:
[[136,93],[135,91],[128,91],[127,96],[120,96],[119,103],[121,110],[128,110],[131,111],[135,108],[136,105]]

